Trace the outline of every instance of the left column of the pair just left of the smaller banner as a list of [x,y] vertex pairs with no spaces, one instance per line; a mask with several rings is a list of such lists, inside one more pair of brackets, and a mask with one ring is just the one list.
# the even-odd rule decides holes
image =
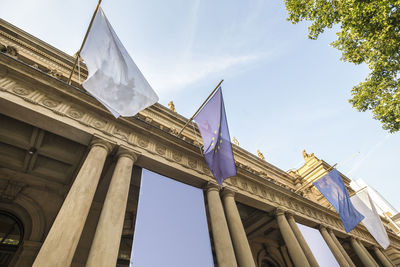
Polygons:
[[278,222],[279,230],[281,231],[283,240],[288,248],[290,257],[295,266],[297,267],[308,267],[310,264],[304,255],[303,250],[300,247],[299,242],[294,235],[292,228],[286,220],[285,213],[281,209],[276,210],[276,220]]

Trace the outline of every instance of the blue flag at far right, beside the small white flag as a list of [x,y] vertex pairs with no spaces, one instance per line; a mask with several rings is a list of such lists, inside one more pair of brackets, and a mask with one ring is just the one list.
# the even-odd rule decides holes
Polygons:
[[364,219],[351,203],[346,186],[336,169],[313,184],[339,213],[346,232],[353,230]]

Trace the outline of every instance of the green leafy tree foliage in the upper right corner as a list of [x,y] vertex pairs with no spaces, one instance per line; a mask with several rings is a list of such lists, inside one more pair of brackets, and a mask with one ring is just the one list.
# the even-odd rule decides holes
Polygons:
[[358,111],[371,110],[390,132],[400,130],[400,1],[285,0],[288,20],[311,21],[311,39],[326,28],[340,27],[331,45],[342,60],[366,63],[370,73],[351,90]]

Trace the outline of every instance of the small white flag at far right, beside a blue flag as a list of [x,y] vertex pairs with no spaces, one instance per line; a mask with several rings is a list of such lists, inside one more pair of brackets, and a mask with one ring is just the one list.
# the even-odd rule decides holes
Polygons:
[[386,249],[390,244],[389,237],[367,190],[358,192],[350,199],[354,207],[364,215],[365,218],[362,220],[364,226],[368,229],[379,245]]

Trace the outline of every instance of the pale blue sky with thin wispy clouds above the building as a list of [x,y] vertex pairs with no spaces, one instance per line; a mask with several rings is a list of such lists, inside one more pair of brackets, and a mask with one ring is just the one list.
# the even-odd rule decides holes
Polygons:
[[[96,0],[3,1],[0,17],[69,53]],[[286,21],[283,1],[110,1],[103,9],[160,103],[190,117],[220,79],[231,136],[288,170],[314,152],[363,178],[400,209],[400,135],[347,102],[366,66],[341,62],[335,32],[307,39]],[[355,153],[360,154],[350,161]],[[346,164],[343,164],[346,162]]]

